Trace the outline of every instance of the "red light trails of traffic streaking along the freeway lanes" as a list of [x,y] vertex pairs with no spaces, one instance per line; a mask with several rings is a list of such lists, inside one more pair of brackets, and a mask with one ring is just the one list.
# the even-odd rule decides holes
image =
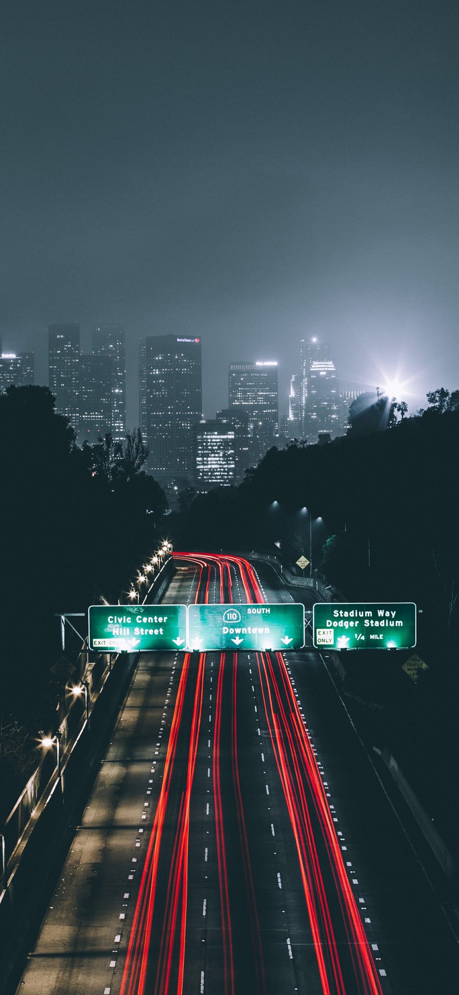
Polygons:
[[[251,564],[240,557],[207,553],[176,553],[176,559],[198,567],[195,602],[209,601],[211,578],[221,602],[232,602],[232,578],[238,577],[245,598],[264,601]],[[227,598],[225,591],[227,589]],[[230,770],[232,805],[238,831],[238,853],[250,924],[252,969],[256,995],[266,995],[263,937],[245,824],[243,789],[237,752],[238,656],[220,655],[213,735],[213,789],[217,866],[222,922],[223,995],[237,995],[236,942],[231,920],[231,882],[225,825],[222,768],[222,723],[225,688],[230,695]],[[207,655],[185,654],[175,702],[164,774],[147,848],[124,962],[120,995],[182,995],[187,961],[188,862],[190,806],[199,749]],[[382,995],[370,944],[347,874],[319,766],[300,714],[281,653],[257,653],[259,680],[268,739],[275,760],[281,796],[293,834],[323,995]],[[212,696],[211,696],[212,697]],[[193,700],[191,721],[185,702]],[[187,712],[188,714],[188,712]],[[186,779],[177,787],[178,740],[186,736]],[[210,745],[210,743],[209,743]],[[227,778],[228,782],[228,778]],[[228,794],[228,783],[226,785]],[[167,844],[166,825],[171,834]],[[169,864],[164,864],[164,862]],[[167,880],[159,898],[159,868]],[[166,875],[165,875],[166,870]],[[239,896],[240,897],[240,896]],[[343,934],[347,942],[343,943]],[[339,938],[338,938],[339,937]],[[191,942],[191,941],[190,941]],[[212,993],[214,995],[214,993]]]

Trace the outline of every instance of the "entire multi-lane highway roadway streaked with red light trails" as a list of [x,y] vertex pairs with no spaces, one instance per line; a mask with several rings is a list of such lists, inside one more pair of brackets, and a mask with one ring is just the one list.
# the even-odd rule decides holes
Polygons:
[[[176,555],[166,601],[290,601]],[[311,607],[314,595],[306,595]],[[457,948],[317,652],[142,654],[21,995],[422,995]]]

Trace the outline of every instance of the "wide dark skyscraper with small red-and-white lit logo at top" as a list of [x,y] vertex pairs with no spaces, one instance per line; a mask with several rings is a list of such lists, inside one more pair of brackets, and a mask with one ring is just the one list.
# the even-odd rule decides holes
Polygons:
[[148,467],[170,482],[194,474],[193,429],[203,417],[201,339],[147,335],[140,343],[140,428]]

